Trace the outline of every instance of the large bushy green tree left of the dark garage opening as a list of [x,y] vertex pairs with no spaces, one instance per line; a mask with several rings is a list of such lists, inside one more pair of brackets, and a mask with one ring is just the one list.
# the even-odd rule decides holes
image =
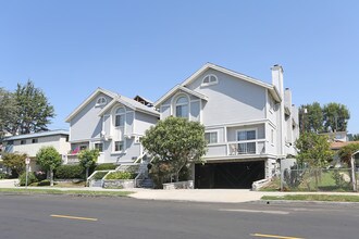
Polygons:
[[207,146],[205,126],[171,116],[151,126],[141,143],[150,154],[156,155],[158,168],[173,173],[178,181],[184,166],[189,162],[202,162]]

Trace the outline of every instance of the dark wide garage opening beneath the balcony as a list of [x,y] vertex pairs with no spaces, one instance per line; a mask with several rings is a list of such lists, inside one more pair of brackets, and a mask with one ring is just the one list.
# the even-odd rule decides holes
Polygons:
[[264,178],[264,161],[196,164],[196,188],[251,188]]

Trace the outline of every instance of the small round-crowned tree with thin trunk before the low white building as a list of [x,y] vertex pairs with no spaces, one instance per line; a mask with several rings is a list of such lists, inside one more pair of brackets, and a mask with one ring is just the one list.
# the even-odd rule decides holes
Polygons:
[[36,154],[37,164],[50,172],[50,186],[53,186],[53,171],[62,163],[61,155],[52,146],[42,147]]

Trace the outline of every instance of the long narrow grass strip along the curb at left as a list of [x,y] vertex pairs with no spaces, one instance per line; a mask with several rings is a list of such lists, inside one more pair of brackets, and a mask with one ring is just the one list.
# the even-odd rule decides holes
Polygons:
[[59,189],[25,189],[25,188],[0,188],[0,193],[16,194],[69,194],[88,197],[127,197],[132,191],[88,191],[88,190],[59,190]]

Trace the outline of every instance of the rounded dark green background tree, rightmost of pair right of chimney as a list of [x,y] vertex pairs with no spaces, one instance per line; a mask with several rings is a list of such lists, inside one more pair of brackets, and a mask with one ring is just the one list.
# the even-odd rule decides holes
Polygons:
[[346,131],[349,110],[339,103],[329,103],[323,106],[324,128],[326,131]]

